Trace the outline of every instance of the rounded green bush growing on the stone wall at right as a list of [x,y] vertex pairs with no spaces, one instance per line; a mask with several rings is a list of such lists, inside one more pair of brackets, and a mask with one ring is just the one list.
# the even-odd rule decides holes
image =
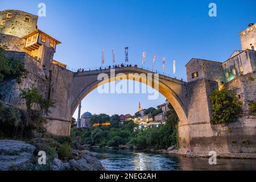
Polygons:
[[212,102],[212,125],[225,124],[236,121],[241,114],[242,103],[237,100],[232,90],[214,90],[210,94]]

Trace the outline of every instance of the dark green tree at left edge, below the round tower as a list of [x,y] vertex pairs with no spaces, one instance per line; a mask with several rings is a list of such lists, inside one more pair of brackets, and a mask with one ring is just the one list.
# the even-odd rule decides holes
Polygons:
[[18,83],[27,76],[24,63],[5,56],[5,50],[0,48],[0,82],[7,78],[16,78]]

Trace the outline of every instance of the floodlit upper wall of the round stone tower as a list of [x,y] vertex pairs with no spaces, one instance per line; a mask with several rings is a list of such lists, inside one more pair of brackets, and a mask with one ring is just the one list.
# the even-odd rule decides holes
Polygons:
[[[7,18],[7,13],[12,13],[11,18]],[[30,22],[25,22],[25,17],[30,17]],[[36,30],[38,16],[19,11],[19,10],[5,10],[0,11],[0,23],[5,20],[5,24],[0,24],[0,33],[7,35],[14,35],[19,38]]]

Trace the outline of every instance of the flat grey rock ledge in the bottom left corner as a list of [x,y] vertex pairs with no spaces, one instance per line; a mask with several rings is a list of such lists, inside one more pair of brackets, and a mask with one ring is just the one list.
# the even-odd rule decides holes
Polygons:
[[31,167],[35,146],[17,140],[0,140],[0,170],[22,170]]

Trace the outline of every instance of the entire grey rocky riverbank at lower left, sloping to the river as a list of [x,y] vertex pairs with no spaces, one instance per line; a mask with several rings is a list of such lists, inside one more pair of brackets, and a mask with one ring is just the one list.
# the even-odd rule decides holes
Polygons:
[[[40,139],[38,139],[40,140]],[[73,149],[72,159],[51,160],[38,164],[42,143],[34,145],[19,140],[0,140],[0,170],[102,171],[105,168],[88,150]],[[82,149],[82,148],[81,148]],[[50,160],[50,161],[49,161]]]

